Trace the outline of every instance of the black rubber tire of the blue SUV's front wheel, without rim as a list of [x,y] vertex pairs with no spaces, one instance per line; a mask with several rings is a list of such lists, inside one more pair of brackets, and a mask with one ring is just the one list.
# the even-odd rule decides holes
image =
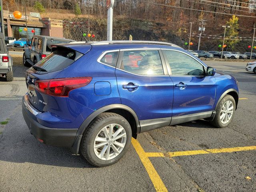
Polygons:
[[[221,108],[224,105],[224,103],[226,103],[228,100],[230,100],[233,103],[233,114],[230,118],[230,120],[226,123],[223,124],[220,121],[220,112],[221,112]],[[217,128],[223,128],[226,127],[230,124],[230,122],[232,121],[232,119],[234,118],[234,114],[235,114],[235,109],[236,109],[236,102],[234,100],[234,98],[231,95],[225,95],[222,100],[220,101],[220,103],[218,104],[218,106],[216,107],[216,115],[214,117],[214,119],[211,121],[211,124]]]

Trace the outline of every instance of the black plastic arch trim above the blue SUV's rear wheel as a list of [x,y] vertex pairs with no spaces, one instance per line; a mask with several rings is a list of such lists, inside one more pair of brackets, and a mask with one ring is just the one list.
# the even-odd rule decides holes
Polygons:
[[106,112],[108,110],[113,110],[113,109],[123,109],[123,110],[126,110],[126,111],[130,112],[132,114],[132,116],[134,117],[135,121],[136,121],[137,134],[140,132],[140,122],[139,122],[137,114],[134,112],[134,110],[132,108],[130,108],[126,105],[123,105],[123,104],[111,104],[111,105],[108,105],[108,106],[104,106],[102,108],[97,109],[92,114],[90,114],[84,120],[84,122],[81,124],[81,126],[78,128],[78,131],[76,133],[76,138],[75,138],[74,143],[71,147],[71,151],[74,154],[78,154],[79,147],[80,147],[80,142],[81,142],[81,139],[82,139],[82,135],[83,135],[84,131],[86,131],[87,127],[92,122],[92,120],[94,120],[99,114],[102,114],[103,112]]

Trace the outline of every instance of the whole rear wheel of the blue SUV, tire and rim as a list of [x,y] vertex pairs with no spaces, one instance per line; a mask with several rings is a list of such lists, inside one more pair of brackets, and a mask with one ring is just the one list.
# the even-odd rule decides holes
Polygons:
[[83,134],[80,151],[96,167],[114,164],[128,150],[132,129],[128,121],[115,113],[102,113]]

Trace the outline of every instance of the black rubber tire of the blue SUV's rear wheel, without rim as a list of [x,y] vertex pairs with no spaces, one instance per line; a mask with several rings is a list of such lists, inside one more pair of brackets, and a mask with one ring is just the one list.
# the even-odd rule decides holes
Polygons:
[[[102,128],[109,124],[119,124],[124,128],[126,132],[126,143],[123,150],[116,157],[110,160],[102,160],[98,158],[94,152],[94,139],[96,138],[100,130],[102,130]],[[109,166],[120,160],[122,156],[126,153],[126,151],[129,148],[131,138],[131,126],[124,117],[115,113],[102,113],[93,120],[93,122],[88,126],[87,130],[84,132],[80,143],[80,152],[82,153],[82,156],[84,156],[84,158],[93,166]]]

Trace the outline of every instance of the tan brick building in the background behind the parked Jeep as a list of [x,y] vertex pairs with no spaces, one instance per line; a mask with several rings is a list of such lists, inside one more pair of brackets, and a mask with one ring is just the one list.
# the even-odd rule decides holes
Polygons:
[[[3,13],[5,36],[15,37],[16,39],[25,38],[26,32],[23,30],[26,27],[25,16],[16,19],[12,13],[6,10],[3,10]],[[27,25],[29,39],[31,39],[34,34],[63,38],[62,20],[40,18],[40,14],[30,13],[27,15]],[[22,30],[21,32],[20,29]],[[31,30],[35,32],[32,33]]]

